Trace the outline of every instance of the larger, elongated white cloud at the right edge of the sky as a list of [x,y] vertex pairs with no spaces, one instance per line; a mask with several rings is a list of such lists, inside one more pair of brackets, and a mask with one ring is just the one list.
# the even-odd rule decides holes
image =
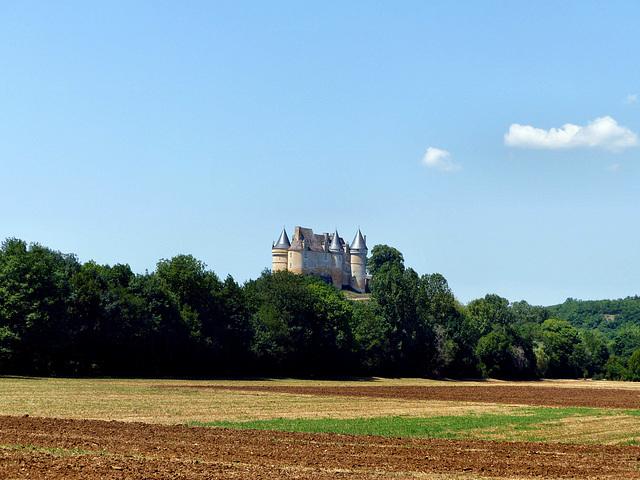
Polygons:
[[553,149],[602,147],[617,151],[638,145],[638,136],[606,116],[596,118],[586,127],[567,123],[550,130],[514,123],[504,135],[504,144],[508,147]]

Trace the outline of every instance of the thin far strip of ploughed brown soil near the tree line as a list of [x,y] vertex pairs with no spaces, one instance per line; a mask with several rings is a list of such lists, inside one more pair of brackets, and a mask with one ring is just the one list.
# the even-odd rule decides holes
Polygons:
[[593,387],[554,387],[549,384],[488,384],[465,386],[376,386],[302,387],[302,386],[180,386],[170,388],[207,388],[254,392],[291,393],[329,397],[370,397],[400,400],[432,400],[534,405],[549,407],[594,407],[639,409],[640,391]]

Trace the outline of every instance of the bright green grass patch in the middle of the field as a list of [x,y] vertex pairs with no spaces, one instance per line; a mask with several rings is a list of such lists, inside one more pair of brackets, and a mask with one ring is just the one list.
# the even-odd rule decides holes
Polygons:
[[517,414],[468,414],[435,417],[378,417],[356,419],[273,419],[248,422],[192,422],[194,426],[228,427],[258,430],[281,430],[307,433],[346,433],[385,437],[432,437],[448,439],[492,438],[543,441],[546,434],[536,432],[544,427],[560,428],[573,417],[611,415],[591,408],[523,408]]

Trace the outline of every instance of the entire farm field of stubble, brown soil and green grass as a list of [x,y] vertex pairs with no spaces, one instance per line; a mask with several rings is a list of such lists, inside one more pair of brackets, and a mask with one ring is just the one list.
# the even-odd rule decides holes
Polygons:
[[0,377],[0,398],[0,478],[640,478],[630,383]]

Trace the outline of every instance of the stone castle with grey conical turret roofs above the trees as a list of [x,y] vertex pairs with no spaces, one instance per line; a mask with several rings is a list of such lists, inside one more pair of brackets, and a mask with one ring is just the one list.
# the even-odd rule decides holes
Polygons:
[[316,275],[336,288],[367,290],[367,242],[360,229],[351,245],[338,235],[314,234],[310,228],[296,227],[291,242],[283,228],[271,246],[273,271],[289,270],[301,275]]

